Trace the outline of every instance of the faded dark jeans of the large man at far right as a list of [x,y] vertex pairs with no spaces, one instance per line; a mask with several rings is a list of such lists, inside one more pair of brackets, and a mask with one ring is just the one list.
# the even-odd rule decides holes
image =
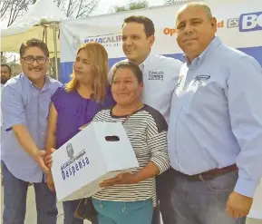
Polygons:
[[244,224],[226,212],[227,201],[238,180],[232,171],[213,180],[189,180],[176,170],[168,170],[158,180],[160,211],[164,224]]

